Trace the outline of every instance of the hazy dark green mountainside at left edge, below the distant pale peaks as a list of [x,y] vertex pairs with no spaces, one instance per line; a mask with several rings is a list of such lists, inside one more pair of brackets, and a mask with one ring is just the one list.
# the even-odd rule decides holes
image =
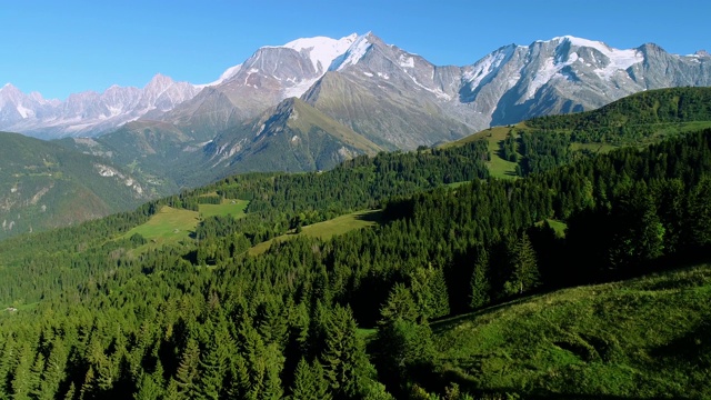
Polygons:
[[0,132],[0,239],[127,210],[154,190],[104,159]]

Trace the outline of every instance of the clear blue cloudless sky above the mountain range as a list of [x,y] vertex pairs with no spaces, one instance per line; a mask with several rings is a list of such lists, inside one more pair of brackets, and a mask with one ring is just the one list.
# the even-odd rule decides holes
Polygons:
[[0,86],[64,99],[158,72],[207,83],[261,46],[368,31],[435,64],[564,34],[687,54],[711,50],[710,17],[708,0],[8,0]]

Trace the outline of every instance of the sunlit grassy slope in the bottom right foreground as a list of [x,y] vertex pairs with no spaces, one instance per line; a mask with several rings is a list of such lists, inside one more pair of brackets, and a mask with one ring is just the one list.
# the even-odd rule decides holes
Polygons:
[[438,322],[435,364],[471,390],[711,398],[710,321],[702,266]]

